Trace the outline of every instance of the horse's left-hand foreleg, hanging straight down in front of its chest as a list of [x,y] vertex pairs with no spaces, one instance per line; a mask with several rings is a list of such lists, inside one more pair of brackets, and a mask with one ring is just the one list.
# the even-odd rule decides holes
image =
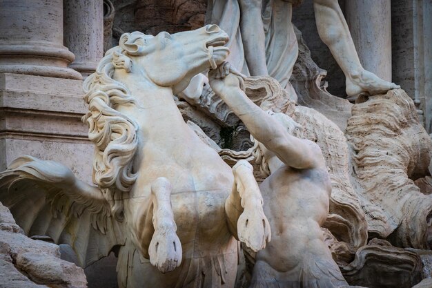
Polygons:
[[175,233],[177,225],[170,199],[172,189],[165,177],[157,178],[151,186],[155,232],[148,247],[148,255],[150,263],[162,273],[173,271],[181,263],[181,243]]

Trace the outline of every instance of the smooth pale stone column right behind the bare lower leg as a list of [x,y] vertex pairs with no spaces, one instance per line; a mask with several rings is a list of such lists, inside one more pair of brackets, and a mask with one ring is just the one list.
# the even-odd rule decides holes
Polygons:
[[363,67],[391,81],[390,0],[347,0],[346,22]]

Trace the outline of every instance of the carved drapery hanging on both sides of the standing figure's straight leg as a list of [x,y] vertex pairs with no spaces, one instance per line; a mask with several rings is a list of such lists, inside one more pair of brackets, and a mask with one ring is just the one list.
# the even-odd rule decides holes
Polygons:
[[[266,65],[268,75],[277,79],[288,92],[293,90],[289,78],[298,55],[297,39],[291,23],[291,10],[301,0],[263,0],[262,21],[266,35]],[[208,0],[206,24],[217,24],[228,33],[230,55],[226,59],[237,70],[250,75],[244,57],[244,44],[240,32],[240,10],[237,0]]]

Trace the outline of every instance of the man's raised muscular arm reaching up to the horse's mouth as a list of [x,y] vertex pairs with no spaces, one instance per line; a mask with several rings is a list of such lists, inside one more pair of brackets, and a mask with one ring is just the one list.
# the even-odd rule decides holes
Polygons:
[[279,160],[296,169],[313,168],[319,164],[319,149],[313,142],[301,140],[288,133],[286,127],[262,108],[255,105],[240,89],[240,79],[229,73],[229,64],[209,73],[210,86],[233,110],[256,140],[273,151]]

